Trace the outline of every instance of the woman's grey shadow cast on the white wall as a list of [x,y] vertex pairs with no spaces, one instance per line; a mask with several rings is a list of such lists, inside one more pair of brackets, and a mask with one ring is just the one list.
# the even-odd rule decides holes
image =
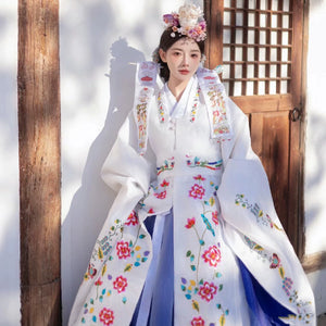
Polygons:
[[82,187],[75,193],[62,226],[63,322],[68,314],[100,229],[113,202],[114,193],[101,180],[101,167],[116,138],[120,126],[133,105],[136,65],[143,54],[120,38],[111,47],[110,103],[103,129],[92,142]]

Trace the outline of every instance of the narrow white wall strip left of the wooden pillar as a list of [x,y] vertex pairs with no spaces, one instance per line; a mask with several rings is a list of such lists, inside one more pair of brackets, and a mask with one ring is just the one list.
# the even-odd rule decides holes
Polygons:
[[17,1],[0,1],[0,306],[1,326],[20,325]]

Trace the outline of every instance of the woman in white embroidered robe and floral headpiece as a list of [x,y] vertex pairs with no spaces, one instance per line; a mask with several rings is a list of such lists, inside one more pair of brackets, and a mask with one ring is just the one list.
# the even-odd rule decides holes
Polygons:
[[117,191],[70,325],[315,325],[304,272],[276,216],[246,115],[199,67],[195,5],[164,15],[158,64],[102,170]]

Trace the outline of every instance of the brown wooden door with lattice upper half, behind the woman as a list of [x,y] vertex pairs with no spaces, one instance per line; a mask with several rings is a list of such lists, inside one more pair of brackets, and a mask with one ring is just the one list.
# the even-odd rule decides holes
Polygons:
[[278,215],[299,253],[303,0],[205,0],[208,62],[248,114]]

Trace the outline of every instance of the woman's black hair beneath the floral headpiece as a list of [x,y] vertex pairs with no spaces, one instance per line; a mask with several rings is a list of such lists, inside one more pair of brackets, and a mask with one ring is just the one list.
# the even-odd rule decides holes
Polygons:
[[[187,35],[183,35],[178,32],[174,33],[175,37],[172,37],[171,36],[172,33],[174,33],[172,30],[172,27],[168,27],[163,32],[163,34],[161,36],[159,49],[162,49],[164,52],[166,52],[179,39],[188,37]],[[199,42],[197,42],[197,45],[200,49],[201,55],[203,55],[204,45],[205,45],[204,41],[203,40],[199,41]],[[159,51],[159,49],[158,49],[158,51]],[[158,53],[158,55],[159,55],[159,53]],[[161,78],[163,78],[164,82],[167,82],[170,78],[170,70],[168,70],[167,63],[163,62],[160,55],[159,55],[159,64],[161,66],[160,76],[161,76]]]

